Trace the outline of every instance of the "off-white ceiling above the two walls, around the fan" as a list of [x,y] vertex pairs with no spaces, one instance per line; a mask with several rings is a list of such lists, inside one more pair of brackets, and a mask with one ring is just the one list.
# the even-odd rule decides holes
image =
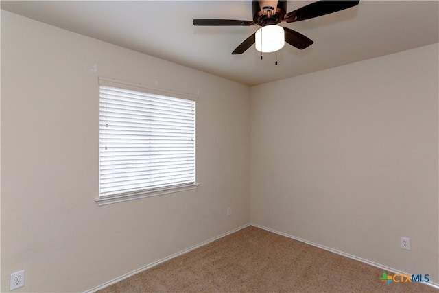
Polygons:
[[[288,1],[287,12],[313,1]],[[65,30],[250,86],[439,41],[439,1],[360,1],[315,19],[281,23],[311,38],[263,60],[230,53],[254,27],[195,27],[192,19],[252,20],[248,1],[1,1],[1,8]]]

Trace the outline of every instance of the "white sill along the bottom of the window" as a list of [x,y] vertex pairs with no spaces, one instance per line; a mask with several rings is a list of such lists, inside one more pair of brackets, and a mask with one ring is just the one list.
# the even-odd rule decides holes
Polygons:
[[124,194],[121,196],[106,196],[102,198],[97,198],[95,202],[97,205],[107,205],[107,204],[115,204],[117,202],[126,202],[128,200],[138,200],[140,198],[149,198],[151,196],[161,196],[163,194],[172,194],[174,192],[187,191],[191,189],[195,189],[200,185],[199,183],[194,183],[191,185],[178,186],[178,187],[166,187],[163,189],[155,189],[152,191],[142,191],[136,194]]

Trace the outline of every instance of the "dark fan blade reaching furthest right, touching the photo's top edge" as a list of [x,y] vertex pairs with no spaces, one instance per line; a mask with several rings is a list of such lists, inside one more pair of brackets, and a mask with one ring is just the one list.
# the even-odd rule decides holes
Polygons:
[[359,1],[317,1],[285,14],[284,21],[293,23],[345,10],[358,5]]

